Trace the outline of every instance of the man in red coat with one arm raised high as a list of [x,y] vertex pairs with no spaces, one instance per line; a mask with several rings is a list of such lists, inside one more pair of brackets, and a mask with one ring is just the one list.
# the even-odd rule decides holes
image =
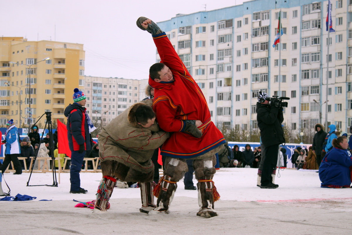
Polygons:
[[159,181],[156,211],[168,213],[177,181],[187,172],[186,159],[192,159],[198,180],[200,210],[197,216],[217,216],[214,200],[219,194],[214,187],[215,153],[225,143],[224,136],[210,119],[206,99],[184,66],[168,37],[150,19],[140,17],[137,26],[152,34],[161,58],[149,70],[149,85],[155,89],[153,110],[159,126],[172,132],[162,146],[165,157],[164,176]]

